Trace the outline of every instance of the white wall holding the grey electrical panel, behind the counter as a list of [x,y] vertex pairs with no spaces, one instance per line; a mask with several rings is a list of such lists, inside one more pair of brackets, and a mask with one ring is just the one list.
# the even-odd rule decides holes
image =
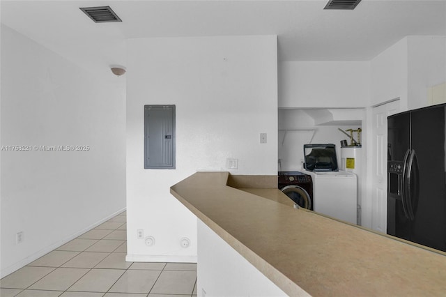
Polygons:
[[[277,38],[129,40],[127,75],[127,259],[196,261],[197,219],[169,187],[199,170],[228,171],[226,158],[238,159],[236,174],[276,174]],[[148,104],[176,105],[174,170],[144,169]]]

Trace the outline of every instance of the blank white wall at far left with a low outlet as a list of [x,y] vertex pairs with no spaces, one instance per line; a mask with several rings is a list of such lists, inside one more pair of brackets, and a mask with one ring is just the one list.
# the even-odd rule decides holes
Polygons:
[[1,26],[2,277],[125,208],[123,94]]

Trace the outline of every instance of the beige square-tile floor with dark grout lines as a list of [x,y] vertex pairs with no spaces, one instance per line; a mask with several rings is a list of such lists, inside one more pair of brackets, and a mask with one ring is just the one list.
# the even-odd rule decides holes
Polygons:
[[0,280],[1,297],[197,296],[197,264],[126,262],[126,213]]

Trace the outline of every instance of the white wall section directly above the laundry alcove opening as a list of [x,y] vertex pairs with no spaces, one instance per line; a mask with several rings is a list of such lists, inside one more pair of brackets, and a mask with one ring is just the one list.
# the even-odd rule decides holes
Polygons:
[[365,107],[370,96],[368,61],[279,63],[279,108]]

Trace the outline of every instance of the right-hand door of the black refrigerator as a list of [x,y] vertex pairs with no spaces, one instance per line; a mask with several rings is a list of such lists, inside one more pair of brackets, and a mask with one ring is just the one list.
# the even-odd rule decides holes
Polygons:
[[419,178],[410,191],[420,187],[410,241],[446,251],[445,106],[411,112],[410,127]]

